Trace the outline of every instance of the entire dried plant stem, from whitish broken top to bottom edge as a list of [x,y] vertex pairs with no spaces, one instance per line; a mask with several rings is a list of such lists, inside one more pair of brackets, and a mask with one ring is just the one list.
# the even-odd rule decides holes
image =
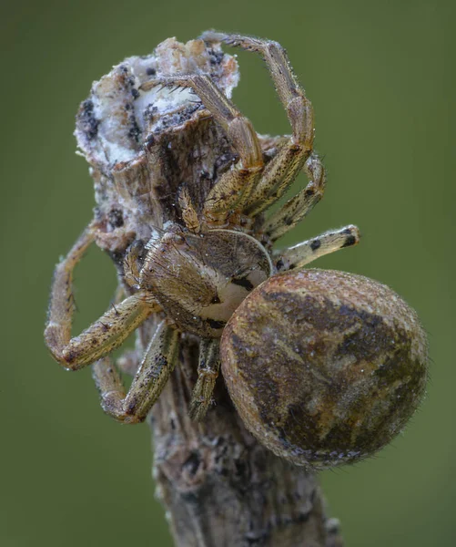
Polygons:
[[[96,244],[110,253],[124,282],[129,245],[147,243],[169,222],[182,223],[182,201],[194,204],[195,216],[201,214],[214,184],[238,162],[239,150],[226,129],[194,95],[139,90],[149,74],[182,72],[210,74],[227,96],[238,82],[236,59],[219,44],[169,38],[150,56],[129,57],[95,82],[77,116],[78,146],[95,182]],[[283,143],[280,137],[258,136],[265,163]],[[255,222],[261,220],[257,215]],[[127,283],[123,288],[132,292]],[[137,360],[156,322],[152,316],[137,329]],[[188,417],[198,368],[195,337],[183,335],[179,361],[148,417],[157,493],[176,546],[341,545],[316,478],[252,438],[221,377],[217,405],[207,418],[197,423]]]

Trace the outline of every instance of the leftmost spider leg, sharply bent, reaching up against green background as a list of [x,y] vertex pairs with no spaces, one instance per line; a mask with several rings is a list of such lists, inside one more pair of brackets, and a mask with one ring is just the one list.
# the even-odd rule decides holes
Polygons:
[[94,241],[89,226],[66,258],[56,265],[45,330],[46,345],[56,361],[70,370],[89,365],[120,346],[127,336],[156,311],[157,304],[138,292],[120,304],[113,304],[82,334],[71,338],[73,319],[73,271]]

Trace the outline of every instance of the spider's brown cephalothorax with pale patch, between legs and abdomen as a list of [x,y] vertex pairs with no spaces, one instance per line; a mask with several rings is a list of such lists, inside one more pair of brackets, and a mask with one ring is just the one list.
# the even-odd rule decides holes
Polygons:
[[147,247],[138,287],[179,330],[201,337],[220,337],[238,305],[273,273],[261,243],[242,232],[191,233],[174,225]]

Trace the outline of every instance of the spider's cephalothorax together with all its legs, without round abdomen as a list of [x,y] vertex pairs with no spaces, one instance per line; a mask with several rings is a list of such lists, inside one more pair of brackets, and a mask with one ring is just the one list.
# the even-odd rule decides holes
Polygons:
[[[132,88],[137,101],[159,88],[189,88],[191,98],[201,103],[195,108],[202,108],[205,116],[223,129],[236,161],[221,170],[200,202],[185,184],[179,186],[174,198],[177,218],[163,223],[160,230],[149,226],[148,241],[137,234],[122,253],[120,270],[127,297],[73,338],[73,270],[96,240],[100,223],[92,222],[56,266],[46,344],[67,369],[94,364],[103,408],[126,423],[146,418],[177,363],[179,340],[187,335],[200,339],[198,381],[190,414],[198,420],[204,418],[218,377],[219,338],[244,298],[272,275],[302,268],[323,254],[359,242],[358,229],[350,225],[272,252],[273,243],[308,214],[325,189],[326,172],[313,150],[311,103],[278,43],[215,32],[204,33],[201,40],[196,42],[206,48],[222,42],[263,57],[292,134],[276,139],[274,152],[266,158],[264,139],[230,101],[228,93],[218,87],[216,79],[198,68],[171,75],[148,69],[149,76]],[[80,115],[87,139],[92,141],[100,123],[91,117],[94,108],[98,107],[93,101],[86,101]],[[153,106],[147,108],[153,112]],[[152,146],[150,142],[148,145]],[[300,170],[309,179],[307,186],[277,212],[266,216],[264,213],[284,195]],[[161,322],[126,392],[108,354],[150,315],[157,315]]]

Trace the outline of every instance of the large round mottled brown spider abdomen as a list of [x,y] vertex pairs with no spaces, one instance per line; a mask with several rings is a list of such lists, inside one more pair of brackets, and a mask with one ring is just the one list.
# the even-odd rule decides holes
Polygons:
[[248,429],[277,455],[326,468],[397,435],[424,393],[426,336],[390,288],[304,270],[270,278],[224,331],[222,370]]

